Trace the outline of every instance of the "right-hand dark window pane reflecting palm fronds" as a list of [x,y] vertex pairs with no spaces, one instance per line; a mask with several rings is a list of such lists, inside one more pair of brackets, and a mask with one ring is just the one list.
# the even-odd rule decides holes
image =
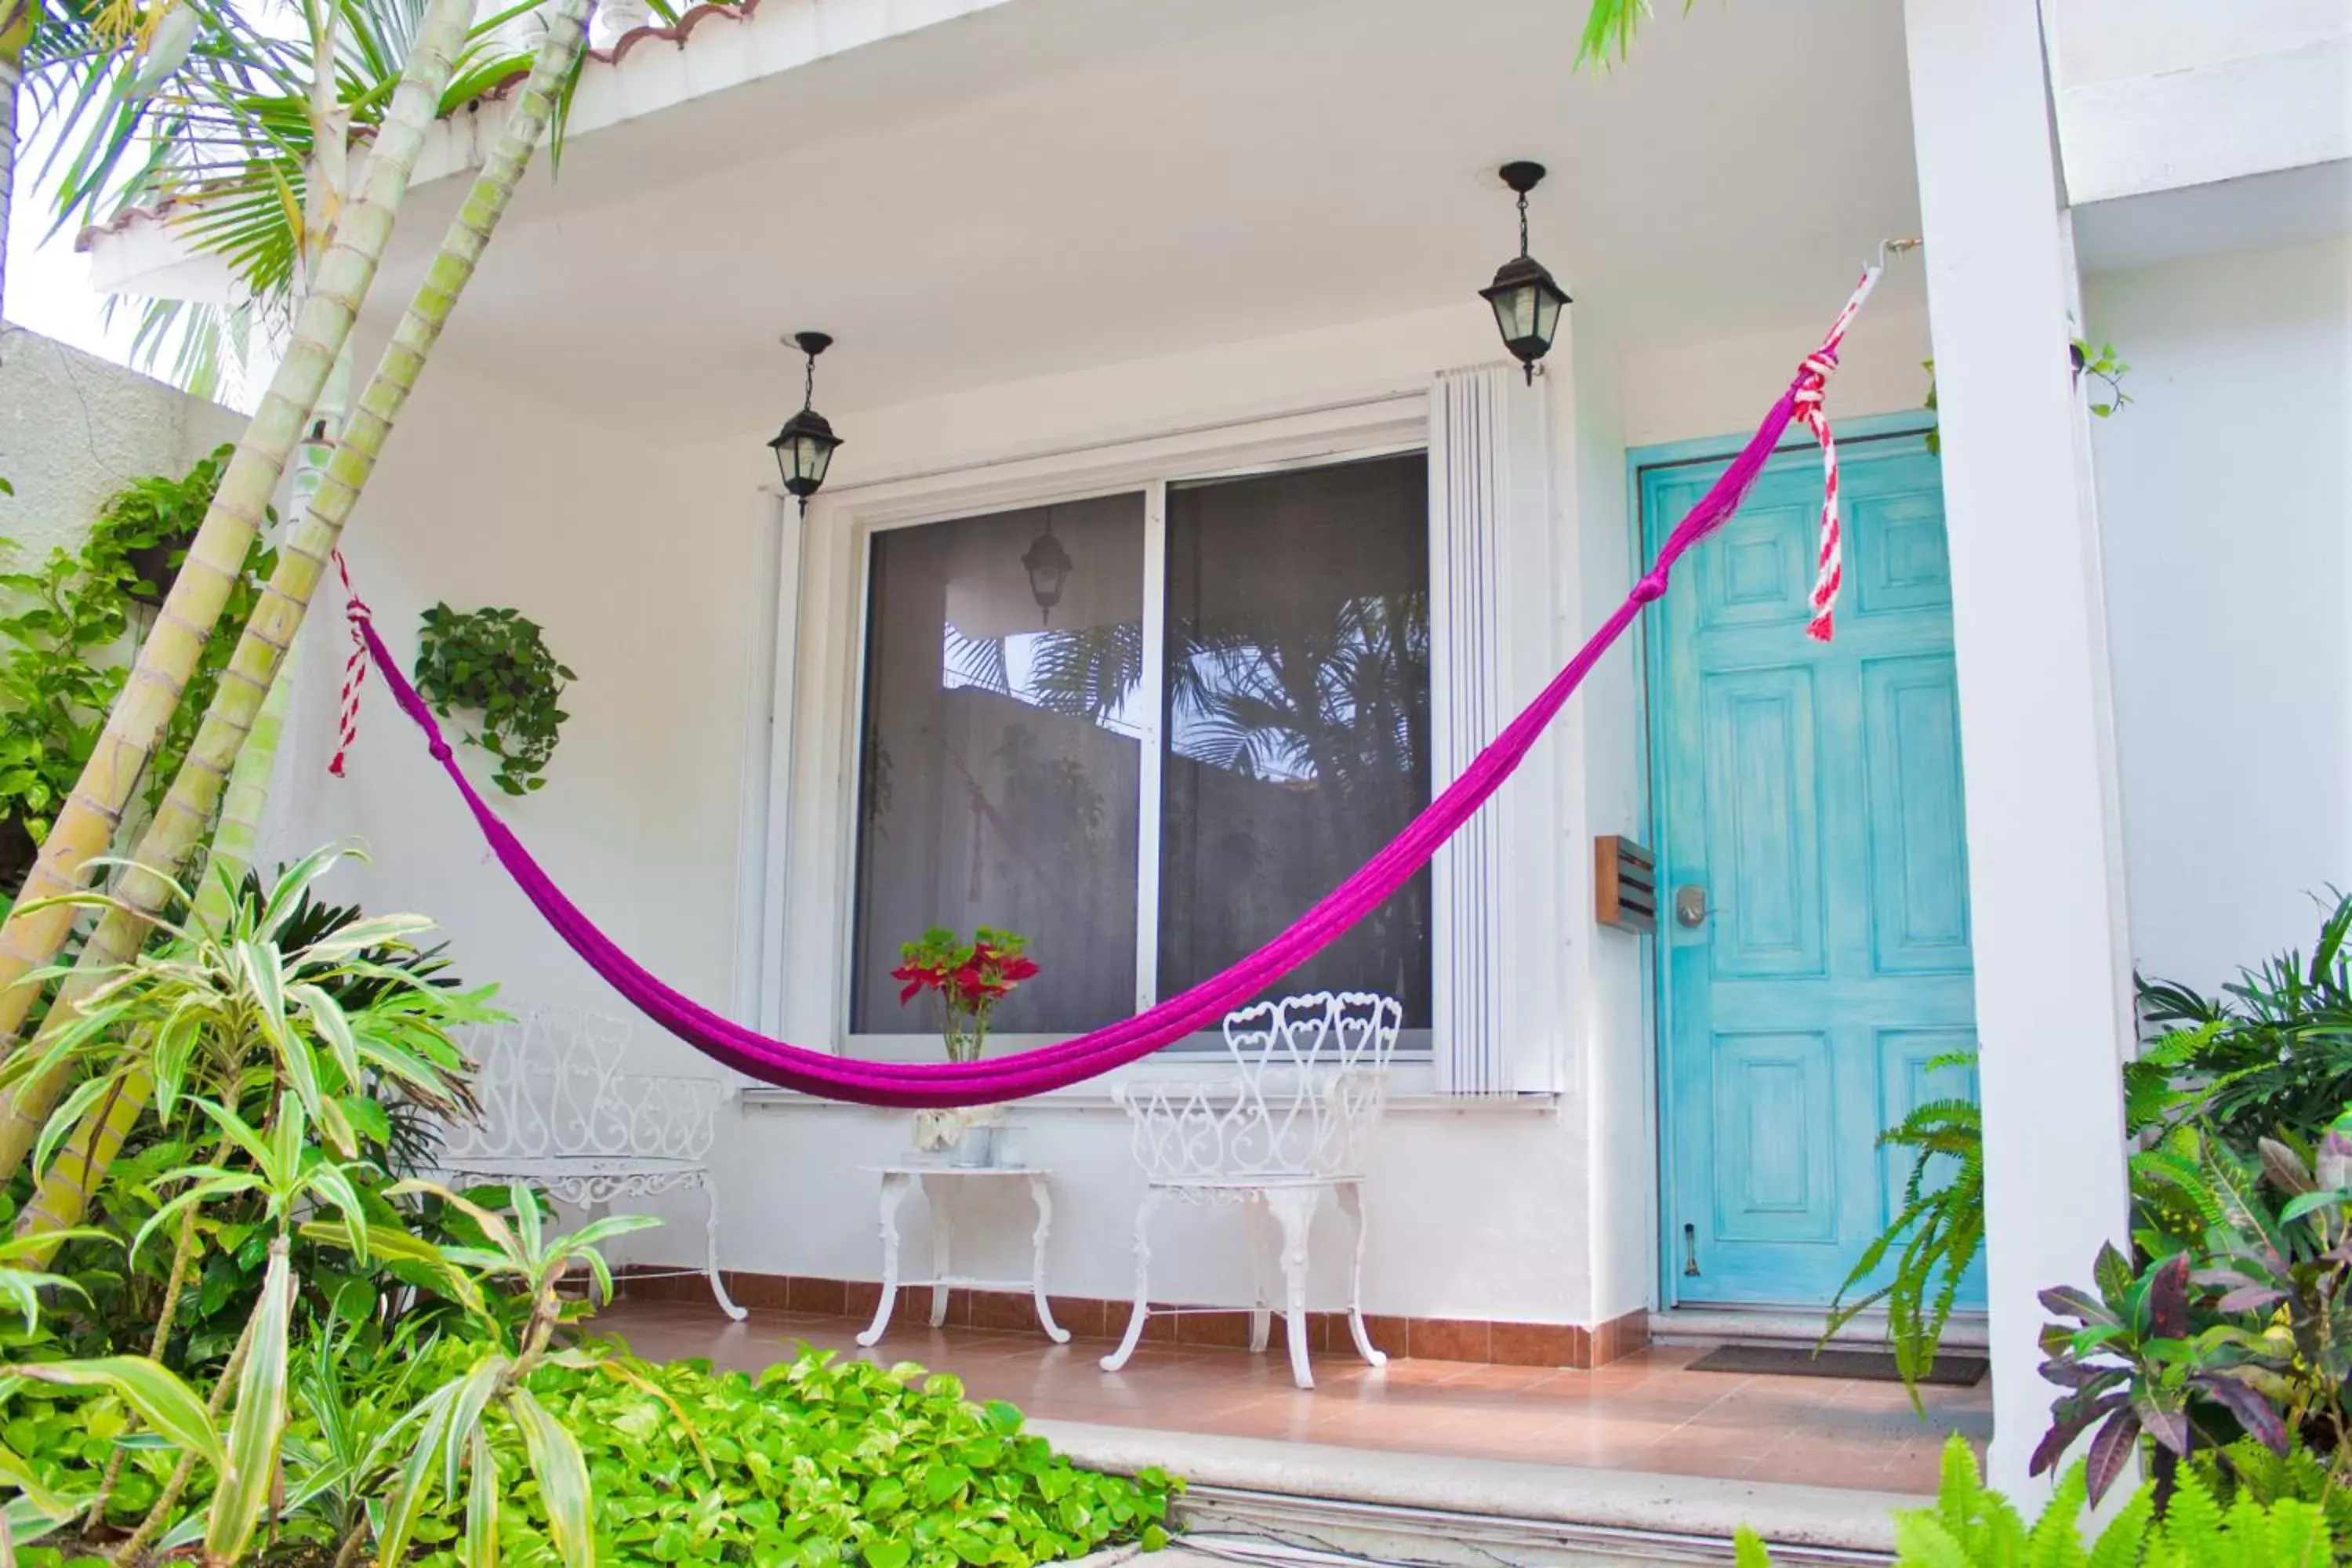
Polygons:
[[[1421,454],[1169,491],[1160,994],[1277,936],[1430,799]],[[1430,1020],[1414,877],[1282,992],[1378,990]]]

